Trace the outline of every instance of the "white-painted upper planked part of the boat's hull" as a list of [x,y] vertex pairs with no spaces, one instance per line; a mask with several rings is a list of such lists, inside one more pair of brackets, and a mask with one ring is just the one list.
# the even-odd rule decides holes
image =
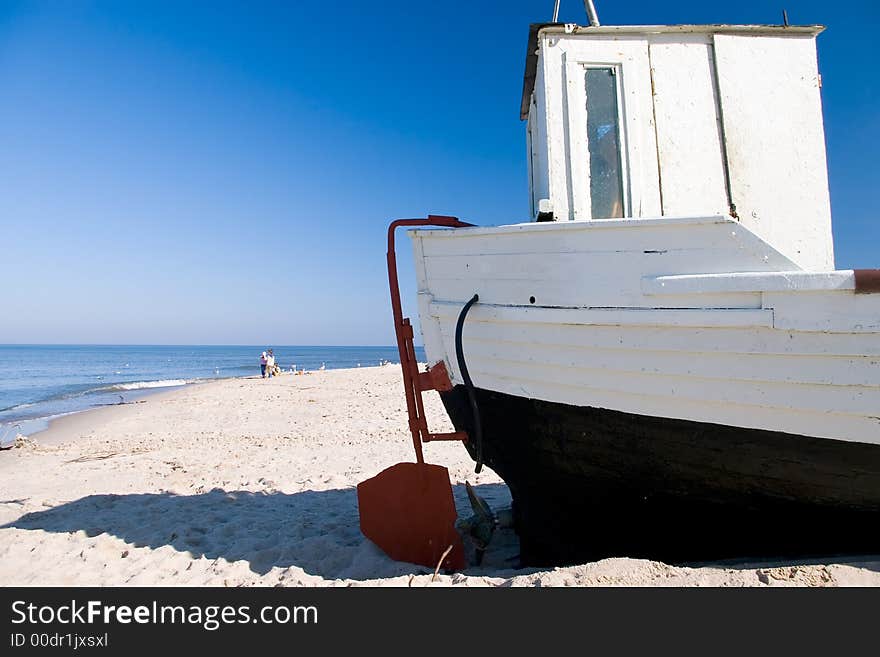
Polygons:
[[724,217],[411,235],[427,355],[457,383],[477,292],[479,387],[880,444],[880,295],[854,294],[851,271],[800,270]]

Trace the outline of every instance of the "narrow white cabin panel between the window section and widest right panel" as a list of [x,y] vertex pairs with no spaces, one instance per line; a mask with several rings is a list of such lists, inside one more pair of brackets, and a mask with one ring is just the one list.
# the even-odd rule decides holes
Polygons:
[[705,34],[650,42],[664,215],[728,211],[712,57]]

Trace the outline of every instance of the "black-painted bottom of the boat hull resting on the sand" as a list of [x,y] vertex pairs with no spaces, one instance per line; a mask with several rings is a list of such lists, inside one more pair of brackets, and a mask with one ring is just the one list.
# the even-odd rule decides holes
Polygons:
[[[880,553],[878,446],[476,394],[523,565]],[[473,436],[465,388],[441,397]]]

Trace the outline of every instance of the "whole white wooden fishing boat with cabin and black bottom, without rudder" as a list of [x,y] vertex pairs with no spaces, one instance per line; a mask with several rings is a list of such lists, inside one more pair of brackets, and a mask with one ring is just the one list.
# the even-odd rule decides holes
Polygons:
[[410,231],[523,562],[876,552],[880,271],[834,266],[823,27],[590,22],[529,31],[532,220]]

